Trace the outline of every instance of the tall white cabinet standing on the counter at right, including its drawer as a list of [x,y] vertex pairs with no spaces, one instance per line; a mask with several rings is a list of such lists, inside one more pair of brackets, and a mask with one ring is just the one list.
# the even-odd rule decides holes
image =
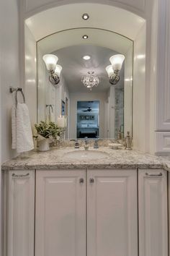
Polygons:
[[158,1],[157,8],[155,153],[165,154],[170,153],[170,1]]

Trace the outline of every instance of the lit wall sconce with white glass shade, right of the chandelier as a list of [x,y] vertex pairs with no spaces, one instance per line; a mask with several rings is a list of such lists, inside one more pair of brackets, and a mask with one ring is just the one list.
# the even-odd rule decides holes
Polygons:
[[109,77],[109,82],[111,85],[116,85],[120,80],[119,72],[122,69],[122,63],[125,59],[125,56],[122,54],[116,54],[109,58],[111,65],[106,67],[106,71]]

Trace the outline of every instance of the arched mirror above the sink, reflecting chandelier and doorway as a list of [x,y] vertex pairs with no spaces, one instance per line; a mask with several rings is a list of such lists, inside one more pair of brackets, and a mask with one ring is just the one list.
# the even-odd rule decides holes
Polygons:
[[[48,120],[48,106],[52,106],[53,120],[66,127],[66,139],[117,139],[128,131],[132,136],[133,43],[108,31],[99,31],[100,34],[106,40],[108,36],[108,47],[103,39],[99,39],[102,43],[79,41],[71,46],[65,42],[62,47],[63,33],[37,43],[37,121]],[[57,56],[56,64],[62,67],[56,84],[50,82],[42,59],[45,54]],[[55,72],[50,71],[51,74]]]

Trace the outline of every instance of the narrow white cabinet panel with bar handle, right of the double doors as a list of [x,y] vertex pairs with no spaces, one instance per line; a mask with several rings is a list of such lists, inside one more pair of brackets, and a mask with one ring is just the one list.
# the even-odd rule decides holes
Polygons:
[[166,175],[163,170],[139,171],[139,256],[168,256]]

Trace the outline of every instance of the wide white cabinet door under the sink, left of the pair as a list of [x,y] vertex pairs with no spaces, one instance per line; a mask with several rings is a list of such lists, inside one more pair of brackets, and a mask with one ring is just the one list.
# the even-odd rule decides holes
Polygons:
[[86,171],[37,171],[35,256],[86,255]]

